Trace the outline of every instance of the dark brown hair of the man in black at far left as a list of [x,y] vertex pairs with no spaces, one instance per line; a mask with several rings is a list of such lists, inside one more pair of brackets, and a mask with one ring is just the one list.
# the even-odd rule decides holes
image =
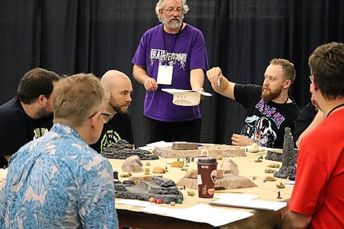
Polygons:
[[60,77],[55,72],[39,67],[31,69],[21,78],[17,97],[25,104],[31,104],[41,95],[49,98],[54,89],[53,82],[58,80]]

